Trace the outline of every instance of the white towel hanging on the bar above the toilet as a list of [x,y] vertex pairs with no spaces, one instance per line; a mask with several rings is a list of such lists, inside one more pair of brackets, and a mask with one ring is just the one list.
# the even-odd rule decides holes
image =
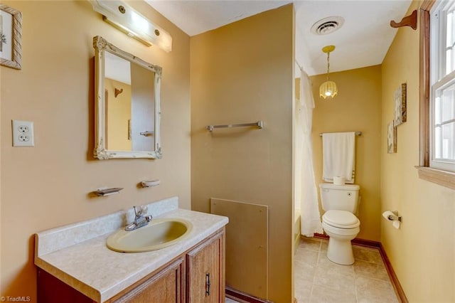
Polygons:
[[354,183],[355,132],[322,134],[324,181],[333,182],[334,176],[343,176],[346,183]]

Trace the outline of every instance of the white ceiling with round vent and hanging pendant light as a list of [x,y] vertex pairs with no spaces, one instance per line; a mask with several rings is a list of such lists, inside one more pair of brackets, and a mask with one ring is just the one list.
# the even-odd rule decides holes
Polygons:
[[[392,43],[396,28],[411,0],[253,0],[192,1],[146,0],[154,9],[189,36],[294,2],[296,11],[296,61],[309,75],[326,73],[323,46],[334,45],[331,72],[378,65]],[[323,36],[311,33],[311,26],[322,18],[342,16],[344,25]],[[411,28],[409,28],[412,31]]]

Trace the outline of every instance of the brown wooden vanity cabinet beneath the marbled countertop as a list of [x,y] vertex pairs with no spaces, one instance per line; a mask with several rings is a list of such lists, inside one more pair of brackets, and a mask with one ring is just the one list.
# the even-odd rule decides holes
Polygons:
[[[225,228],[122,290],[106,303],[203,303],[225,300]],[[38,268],[38,302],[96,302]]]

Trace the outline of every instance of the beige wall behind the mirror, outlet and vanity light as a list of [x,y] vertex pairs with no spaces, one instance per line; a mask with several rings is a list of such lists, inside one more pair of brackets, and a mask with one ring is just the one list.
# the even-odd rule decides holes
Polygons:
[[[33,233],[178,196],[190,208],[189,37],[145,2],[173,50],[148,48],[102,21],[88,1],[3,1],[23,13],[22,70],[1,73],[1,296],[36,302]],[[163,159],[95,160],[93,36],[163,67]],[[11,119],[35,122],[35,147],[11,147]],[[138,188],[144,179],[161,179]],[[101,186],[119,195],[93,198]]]

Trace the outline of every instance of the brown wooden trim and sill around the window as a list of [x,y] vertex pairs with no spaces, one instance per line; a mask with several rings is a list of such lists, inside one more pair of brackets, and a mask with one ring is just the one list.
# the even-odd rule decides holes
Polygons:
[[424,0],[419,9],[420,15],[420,66],[419,66],[419,178],[455,189],[455,173],[430,167],[430,10],[436,0]]

